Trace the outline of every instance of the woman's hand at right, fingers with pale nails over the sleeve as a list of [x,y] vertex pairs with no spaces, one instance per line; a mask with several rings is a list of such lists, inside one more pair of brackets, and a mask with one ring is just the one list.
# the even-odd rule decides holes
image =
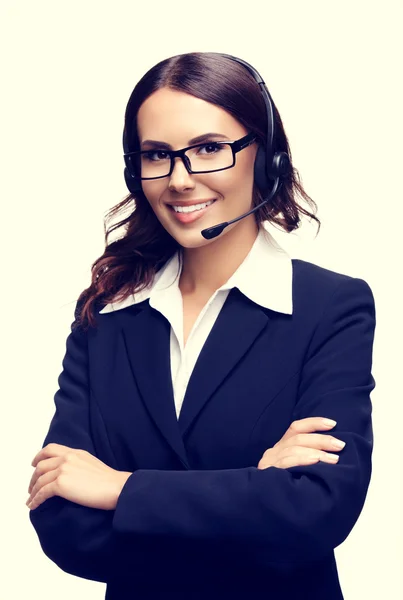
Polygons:
[[[277,467],[288,469],[301,465],[312,465],[318,461],[336,464],[339,456],[333,454],[342,450],[345,443],[331,435],[311,433],[318,430],[329,430],[336,425],[326,424],[322,417],[308,417],[291,423],[283,437],[273,448],[263,454],[257,466],[258,469]],[[334,447],[334,442],[341,442],[342,446]],[[324,450],[330,450],[324,452]]]

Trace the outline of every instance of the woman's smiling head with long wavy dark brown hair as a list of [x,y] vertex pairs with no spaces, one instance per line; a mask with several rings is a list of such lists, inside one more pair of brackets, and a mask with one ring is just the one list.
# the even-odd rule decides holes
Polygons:
[[[194,291],[189,260],[199,256],[199,248],[203,248],[203,262],[207,265],[205,258],[209,255],[216,269],[219,248],[227,261],[228,257],[233,258],[227,269],[217,271],[214,282],[199,289],[198,295],[204,297],[228,279],[245,258],[260,224],[270,222],[291,232],[299,226],[301,217],[307,216],[320,225],[315,214],[298,203],[300,197],[316,211],[298,170],[291,164],[278,192],[254,215],[228,226],[216,239],[206,240],[200,234],[202,229],[236,218],[267,198],[268,190],[254,176],[254,161],[258,148],[265,148],[270,141],[271,118],[273,146],[291,159],[274,102],[272,111],[268,118],[260,87],[251,73],[242,64],[216,53],[173,56],[143,76],[129,98],[125,114],[125,179],[130,194],[106,217],[105,252],[94,262],[91,285],[80,298],[84,300],[83,324],[95,324],[98,303],[124,301],[150,285],[158,270],[178,251],[179,260],[184,263],[181,282],[185,285],[186,280],[192,280]],[[204,144],[196,149],[200,157],[211,152],[208,142],[231,142],[233,164],[225,170],[193,173],[197,166],[195,153],[188,147]],[[154,151],[151,155],[150,150]],[[159,157],[166,173],[154,172],[153,179],[142,179],[150,176],[149,172],[144,173],[144,165],[150,161],[142,158],[143,152],[148,158]],[[228,150],[226,154],[229,156]],[[203,165],[207,160],[211,159],[203,158]],[[155,168],[162,168],[156,162]],[[181,215],[180,219],[169,208],[173,204],[190,206],[210,200],[215,201],[214,205],[197,214],[197,219],[193,214],[186,218]],[[109,220],[120,212],[126,213],[131,205],[133,210],[128,217],[107,226]],[[109,235],[121,227],[125,227],[125,234],[108,244]]]

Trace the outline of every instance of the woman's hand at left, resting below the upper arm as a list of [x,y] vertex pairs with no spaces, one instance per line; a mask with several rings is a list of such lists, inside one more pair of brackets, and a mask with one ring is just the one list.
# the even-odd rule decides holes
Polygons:
[[86,450],[48,444],[32,461],[36,467],[27,506],[34,510],[52,496],[83,506],[114,510],[120,492],[132,473],[116,471]]

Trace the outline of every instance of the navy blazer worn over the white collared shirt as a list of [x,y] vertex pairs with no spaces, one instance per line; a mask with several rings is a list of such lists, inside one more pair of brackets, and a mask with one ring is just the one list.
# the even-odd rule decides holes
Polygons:
[[[179,420],[170,324],[148,300],[69,334],[43,446],[133,474],[113,511],[54,496],[29,514],[45,554],[108,600],[343,598],[334,548],[371,477],[374,298],[363,279],[292,265],[292,315],[231,290]],[[258,469],[309,416],[337,421],[339,462]]]

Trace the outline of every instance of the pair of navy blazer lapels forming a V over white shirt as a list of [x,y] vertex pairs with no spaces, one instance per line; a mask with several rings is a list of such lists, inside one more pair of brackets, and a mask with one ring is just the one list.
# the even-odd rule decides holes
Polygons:
[[168,444],[190,469],[183,441],[186,432],[268,324],[269,316],[237,288],[231,290],[197,359],[177,419],[170,366],[170,323],[148,304],[122,313],[122,333],[143,401]]

